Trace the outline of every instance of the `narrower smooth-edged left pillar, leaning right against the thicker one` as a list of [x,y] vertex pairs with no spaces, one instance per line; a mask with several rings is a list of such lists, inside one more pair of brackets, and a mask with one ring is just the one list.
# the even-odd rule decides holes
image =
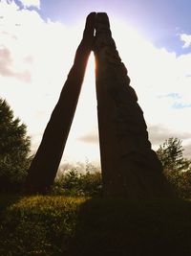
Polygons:
[[31,193],[46,192],[53,184],[73,122],[88,58],[93,48],[95,17],[96,12],[91,12],[87,17],[83,38],[75,54],[74,65],[32,160],[25,186]]

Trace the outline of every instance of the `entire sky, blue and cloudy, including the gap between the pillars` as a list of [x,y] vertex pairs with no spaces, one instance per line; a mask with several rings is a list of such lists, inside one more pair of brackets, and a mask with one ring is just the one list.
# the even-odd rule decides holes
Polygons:
[[[50,119],[86,16],[107,12],[154,150],[169,137],[191,158],[191,1],[0,0],[0,97],[28,127],[32,152]],[[91,55],[64,162],[99,162]]]

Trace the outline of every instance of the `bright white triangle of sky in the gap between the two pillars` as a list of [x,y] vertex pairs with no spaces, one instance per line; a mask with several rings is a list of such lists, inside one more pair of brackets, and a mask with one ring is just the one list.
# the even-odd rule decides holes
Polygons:
[[99,162],[97,138],[95,58],[92,53],[62,161],[85,161],[88,158],[90,161]]

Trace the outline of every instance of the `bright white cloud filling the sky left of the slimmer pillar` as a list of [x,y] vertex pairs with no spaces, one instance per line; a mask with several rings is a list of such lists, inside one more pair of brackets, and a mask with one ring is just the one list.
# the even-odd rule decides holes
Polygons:
[[81,24],[78,26],[67,28],[45,21],[35,10],[20,9],[14,1],[0,1],[1,97],[27,125],[32,151],[40,143],[73,64],[82,35]]

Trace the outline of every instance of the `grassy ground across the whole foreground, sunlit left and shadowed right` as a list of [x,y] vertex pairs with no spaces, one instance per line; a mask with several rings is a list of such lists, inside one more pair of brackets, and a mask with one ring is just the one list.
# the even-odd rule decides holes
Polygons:
[[0,255],[190,256],[191,202],[2,196]]

